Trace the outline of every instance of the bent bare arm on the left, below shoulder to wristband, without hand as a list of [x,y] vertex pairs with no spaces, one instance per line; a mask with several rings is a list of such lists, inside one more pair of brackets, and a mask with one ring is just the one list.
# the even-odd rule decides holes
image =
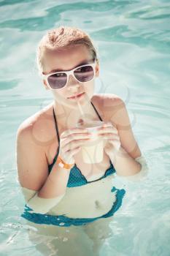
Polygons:
[[59,203],[66,192],[69,170],[54,165],[48,175],[45,151],[34,142],[30,128],[18,129],[17,165],[18,179],[28,206],[44,214]]

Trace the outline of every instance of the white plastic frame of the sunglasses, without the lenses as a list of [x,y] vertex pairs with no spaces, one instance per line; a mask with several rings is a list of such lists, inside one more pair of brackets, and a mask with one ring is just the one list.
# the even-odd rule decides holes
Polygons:
[[[53,72],[53,73],[50,73],[50,74],[47,74],[47,75],[41,74],[41,76],[42,76],[42,79],[44,79],[44,80],[46,81],[47,86],[49,87],[50,90],[61,90],[61,89],[63,89],[64,87],[67,86],[68,81],[69,81],[69,75],[72,75],[72,76],[74,77],[74,79],[77,80],[77,78],[76,78],[75,75],[74,75],[74,70],[79,69],[80,67],[86,67],[86,66],[91,66],[91,67],[93,67],[94,76],[93,76],[93,78],[91,79],[91,80],[93,80],[93,79],[95,78],[95,75],[96,75],[96,69],[95,69],[95,66],[96,66],[96,59],[95,59],[94,62],[91,63],[91,64],[85,64],[85,65],[82,65],[82,66],[79,66],[79,67],[75,67],[74,69],[69,70],[69,71]],[[66,85],[63,86],[62,88],[59,88],[59,89],[53,89],[53,88],[50,86],[50,84],[48,83],[47,78],[48,78],[50,75],[59,74],[59,73],[66,73],[66,79],[67,79],[67,80],[66,80]],[[91,81],[91,80],[88,80],[88,81],[86,81],[86,82],[80,82],[80,80],[77,80],[77,81],[78,81],[79,83],[88,83],[88,82]]]

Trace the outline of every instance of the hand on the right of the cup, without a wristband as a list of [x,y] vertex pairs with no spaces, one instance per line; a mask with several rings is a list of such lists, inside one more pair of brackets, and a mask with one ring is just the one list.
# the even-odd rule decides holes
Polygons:
[[98,137],[106,140],[104,151],[111,158],[117,151],[119,151],[121,143],[117,132],[117,129],[111,122],[104,123],[104,125],[98,128]]

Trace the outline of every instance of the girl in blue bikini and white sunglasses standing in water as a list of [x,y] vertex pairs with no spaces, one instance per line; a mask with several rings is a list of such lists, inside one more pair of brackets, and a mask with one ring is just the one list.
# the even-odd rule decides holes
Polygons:
[[[113,174],[141,170],[125,104],[115,94],[94,94],[98,56],[80,29],[48,31],[39,42],[37,64],[54,100],[18,128],[18,177],[27,203],[22,216],[62,227],[110,217],[125,194],[112,187]],[[98,163],[82,159],[81,147],[91,140],[85,126],[77,127],[85,118],[103,121],[97,135],[104,140],[104,157]]]

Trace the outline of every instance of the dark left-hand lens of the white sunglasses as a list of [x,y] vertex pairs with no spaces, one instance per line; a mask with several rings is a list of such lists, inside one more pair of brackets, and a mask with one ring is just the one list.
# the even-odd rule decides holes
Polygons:
[[51,88],[53,89],[61,89],[63,86],[66,86],[66,73],[56,73],[50,75],[48,78],[48,83],[50,84]]

